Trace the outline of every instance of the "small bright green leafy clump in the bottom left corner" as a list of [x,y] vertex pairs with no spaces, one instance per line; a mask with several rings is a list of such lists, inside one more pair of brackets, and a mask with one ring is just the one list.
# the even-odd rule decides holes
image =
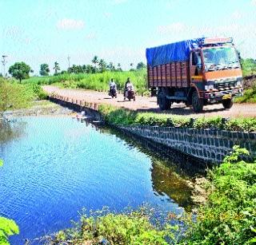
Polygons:
[[19,233],[18,225],[12,219],[0,217],[0,244],[10,244],[8,236]]

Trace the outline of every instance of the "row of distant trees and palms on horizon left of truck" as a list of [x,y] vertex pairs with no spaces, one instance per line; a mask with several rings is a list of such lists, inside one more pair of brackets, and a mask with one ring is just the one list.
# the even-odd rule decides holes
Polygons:
[[[107,63],[104,59],[99,59],[98,56],[94,56],[92,59],[92,64],[88,65],[72,65],[67,70],[61,70],[58,61],[54,62],[54,75],[63,74],[63,73],[104,73],[105,71],[120,71],[122,72],[121,64],[114,65],[113,62]],[[143,62],[139,62],[135,69],[145,69],[146,65]],[[130,63],[130,70],[134,69],[134,63]],[[30,65],[27,65],[25,62],[16,62],[14,65],[11,65],[8,72],[12,77],[15,77],[20,82],[22,79],[30,77],[30,73],[34,71],[30,68]],[[41,76],[49,76],[50,66],[46,63],[40,65],[39,73]],[[0,77],[2,74],[0,74]]]

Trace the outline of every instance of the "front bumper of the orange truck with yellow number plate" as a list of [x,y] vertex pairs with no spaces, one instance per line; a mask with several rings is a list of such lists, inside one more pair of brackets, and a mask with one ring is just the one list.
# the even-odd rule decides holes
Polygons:
[[242,97],[243,89],[230,89],[225,91],[218,91],[214,93],[205,93],[204,99],[208,103],[221,102],[223,100],[228,100],[233,97]]

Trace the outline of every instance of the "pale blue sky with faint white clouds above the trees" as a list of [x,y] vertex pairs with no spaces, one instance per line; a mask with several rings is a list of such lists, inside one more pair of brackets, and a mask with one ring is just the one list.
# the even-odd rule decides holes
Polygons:
[[[233,37],[256,59],[256,0],[0,0],[6,70],[25,61],[39,73],[92,64],[94,55],[130,69],[146,48],[201,37]],[[3,67],[1,64],[1,72]]]

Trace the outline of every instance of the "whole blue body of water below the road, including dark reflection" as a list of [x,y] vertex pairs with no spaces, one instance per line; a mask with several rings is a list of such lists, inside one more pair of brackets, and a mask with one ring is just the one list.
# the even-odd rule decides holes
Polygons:
[[71,117],[21,117],[12,125],[16,133],[0,136],[0,216],[18,223],[13,244],[71,227],[84,207],[191,209],[186,156]]

